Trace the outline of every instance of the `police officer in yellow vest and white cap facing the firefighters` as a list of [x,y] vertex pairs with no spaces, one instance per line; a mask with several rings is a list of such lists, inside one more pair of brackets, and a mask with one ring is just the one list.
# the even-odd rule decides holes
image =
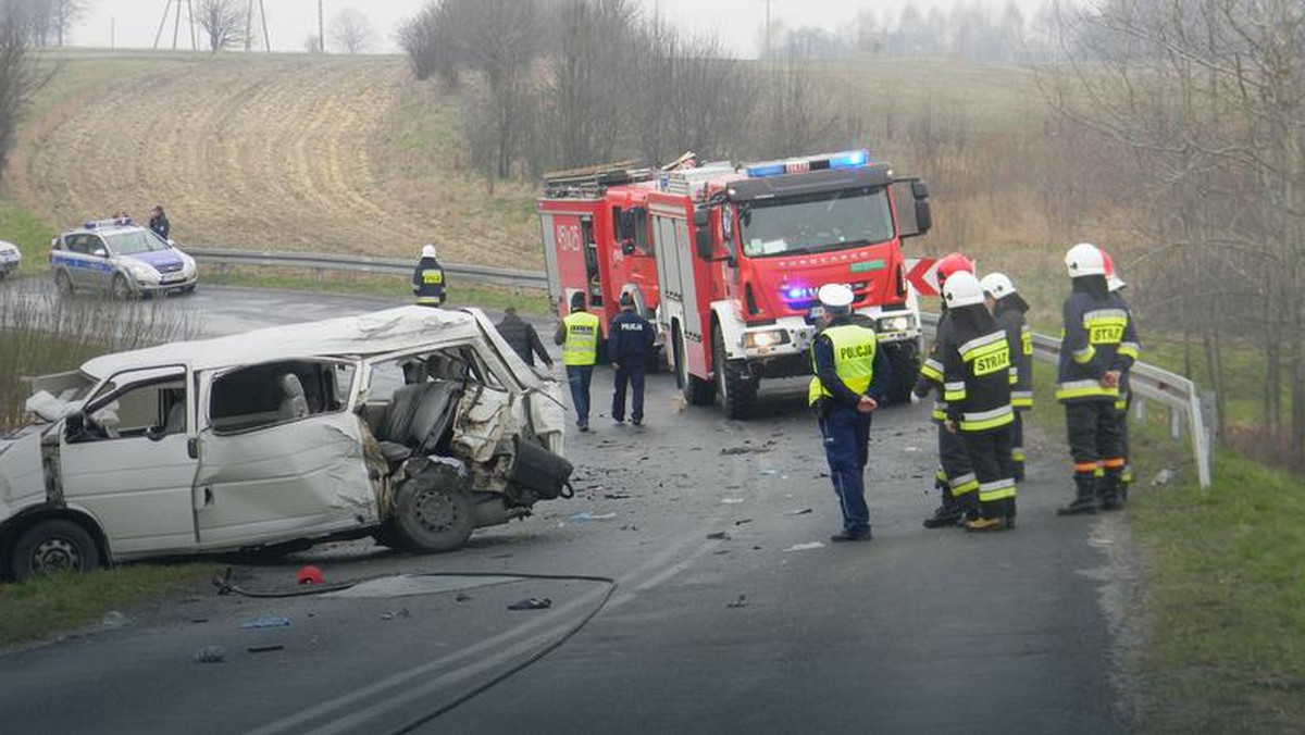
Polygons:
[[873,329],[852,322],[852,290],[842,283],[821,287],[825,328],[812,345],[816,377],[808,402],[816,409],[825,458],[843,512],[843,531],[834,542],[870,540],[865,505],[865,463],[869,460],[870,414],[885,403],[889,362],[878,350]]

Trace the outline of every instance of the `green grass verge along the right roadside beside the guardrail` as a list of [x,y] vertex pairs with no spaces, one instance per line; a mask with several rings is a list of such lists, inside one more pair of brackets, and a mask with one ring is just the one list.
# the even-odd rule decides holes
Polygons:
[[[1052,368],[1037,366],[1034,423],[1052,437],[1065,416]],[[1146,557],[1143,732],[1305,731],[1305,480],[1216,449],[1212,487],[1165,415],[1130,426],[1134,486],[1126,518]],[[1060,440],[1057,440],[1057,444]],[[1151,487],[1160,467],[1172,484]],[[1066,456],[1065,497],[1070,496]]]

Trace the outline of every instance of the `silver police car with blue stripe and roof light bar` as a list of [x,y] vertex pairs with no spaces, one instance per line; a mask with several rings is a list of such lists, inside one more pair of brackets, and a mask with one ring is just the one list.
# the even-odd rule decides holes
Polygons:
[[50,268],[61,294],[108,291],[117,299],[191,292],[194,258],[130,219],[102,219],[55,238]]

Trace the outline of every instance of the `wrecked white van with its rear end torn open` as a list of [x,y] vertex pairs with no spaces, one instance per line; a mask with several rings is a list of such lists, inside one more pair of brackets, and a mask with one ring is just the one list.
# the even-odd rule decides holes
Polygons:
[[476,309],[405,307],[106,355],[33,381],[0,441],[0,560],[410,551],[569,497],[561,386]]

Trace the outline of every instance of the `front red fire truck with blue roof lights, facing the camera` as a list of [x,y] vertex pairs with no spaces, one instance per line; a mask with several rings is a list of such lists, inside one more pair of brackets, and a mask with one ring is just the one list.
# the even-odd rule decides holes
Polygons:
[[662,179],[647,193],[656,316],[688,402],[740,418],[763,377],[810,375],[826,283],[851,286],[890,358],[890,401],[910,402],[923,345],[900,243],[932,223],[923,181],[864,150]]

